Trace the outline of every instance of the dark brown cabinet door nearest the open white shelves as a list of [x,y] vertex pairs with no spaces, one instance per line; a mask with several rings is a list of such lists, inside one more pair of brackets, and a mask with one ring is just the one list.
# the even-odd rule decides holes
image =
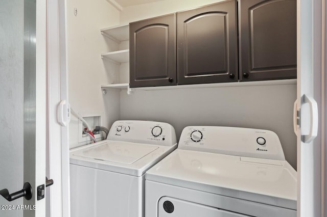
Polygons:
[[176,14],[130,23],[130,87],[176,85]]

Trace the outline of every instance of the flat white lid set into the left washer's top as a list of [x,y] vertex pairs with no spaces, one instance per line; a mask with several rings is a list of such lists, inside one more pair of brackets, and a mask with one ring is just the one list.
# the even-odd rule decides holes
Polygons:
[[87,157],[96,160],[133,164],[138,159],[158,149],[157,146],[129,142],[112,141],[99,146],[77,150],[75,156]]

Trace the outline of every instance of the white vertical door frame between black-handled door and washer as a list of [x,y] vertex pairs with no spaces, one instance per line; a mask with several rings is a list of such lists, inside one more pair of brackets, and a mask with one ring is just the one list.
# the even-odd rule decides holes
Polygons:
[[[70,216],[69,103],[66,73],[65,0],[47,0],[47,171],[54,180],[46,201],[46,216]],[[59,103],[65,100],[66,126],[59,124]]]

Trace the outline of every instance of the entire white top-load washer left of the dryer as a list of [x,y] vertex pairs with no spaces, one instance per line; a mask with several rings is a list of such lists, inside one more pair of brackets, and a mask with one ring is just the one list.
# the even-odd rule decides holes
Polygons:
[[144,216],[145,172],[176,147],[168,123],[116,121],[107,140],[71,150],[71,216]]

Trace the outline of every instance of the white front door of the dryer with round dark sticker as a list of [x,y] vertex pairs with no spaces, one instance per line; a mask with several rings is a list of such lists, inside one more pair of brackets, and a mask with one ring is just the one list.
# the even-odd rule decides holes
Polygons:
[[158,201],[158,217],[245,217],[236,212],[230,212],[211,206],[205,206],[171,197],[162,197]]

